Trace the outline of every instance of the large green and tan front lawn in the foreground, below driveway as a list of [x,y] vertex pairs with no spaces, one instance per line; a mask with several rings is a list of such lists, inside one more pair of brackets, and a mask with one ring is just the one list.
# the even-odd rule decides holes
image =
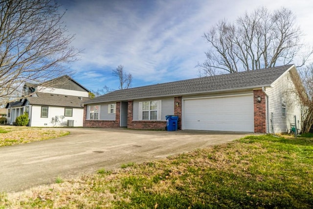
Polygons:
[[249,136],[123,167],[2,194],[0,208],[313,208],[313,138]]

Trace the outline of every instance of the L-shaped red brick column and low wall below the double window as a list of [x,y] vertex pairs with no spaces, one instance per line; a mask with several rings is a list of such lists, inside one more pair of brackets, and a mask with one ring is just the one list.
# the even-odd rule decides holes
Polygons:
[[136,120],[133,121],[133,101],[128,101],[127,128],[165,130],[166,121]]

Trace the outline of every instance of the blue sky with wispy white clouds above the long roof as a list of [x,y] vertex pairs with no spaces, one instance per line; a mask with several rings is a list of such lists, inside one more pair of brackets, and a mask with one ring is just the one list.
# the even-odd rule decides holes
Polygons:
[[73,78],[89,90],[118,89],[112,70],[134,77],[132,87],[198,77],[208,45],[202,38],[221,19],[235,20],[259,6],[285,6],[313,42],[311,0],[60,0],[64,22],[82,50]]

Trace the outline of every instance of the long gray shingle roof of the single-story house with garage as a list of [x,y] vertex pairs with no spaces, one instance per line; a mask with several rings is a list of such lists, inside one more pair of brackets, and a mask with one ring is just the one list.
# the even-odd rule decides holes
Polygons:
[[292,66],[286,65],[118,90],[95,97],[84,104],[267,87]]

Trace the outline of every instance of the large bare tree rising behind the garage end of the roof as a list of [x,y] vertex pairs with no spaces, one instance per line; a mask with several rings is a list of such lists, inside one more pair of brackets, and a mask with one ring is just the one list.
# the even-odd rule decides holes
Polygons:
[[[300,56],[302,32],[291,10],[269,12],[260,7],[244,14],[235,23],[222,20],[204,33],[209,43],[206,61],[198,64],[202,75],[233,73],[290,64]],[[301,55],[303,66],[313,53]]]

